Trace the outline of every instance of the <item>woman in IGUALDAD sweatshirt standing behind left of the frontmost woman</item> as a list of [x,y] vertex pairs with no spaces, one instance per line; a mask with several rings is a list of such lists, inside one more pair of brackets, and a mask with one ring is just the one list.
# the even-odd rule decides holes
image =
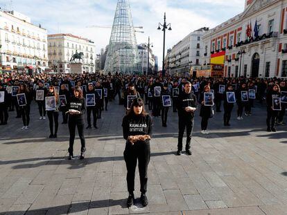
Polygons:
[[86,113],[85,98],[79,86],[73,89],[73,96],[69,102],[69,160],[73,159],[73,143],[75,141],[76,127],[80,138],[80,159],[85,158],[86,142],[84,135],[85,120],[84,114]]

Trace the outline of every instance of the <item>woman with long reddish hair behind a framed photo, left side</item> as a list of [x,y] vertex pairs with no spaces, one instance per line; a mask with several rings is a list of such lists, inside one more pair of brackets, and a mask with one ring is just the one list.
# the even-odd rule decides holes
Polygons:
[[[55,97],[55,110],[47,110],[47,115],[49,119],[49,128],[50,128],[49,138],[57,138],[58,127],[59,127],[58,119],[59,119],[60,100],[59,95],[55,92],[55,87],[53,85],[49,86],[49,90],[46,93],[46,98],[48,97]],[[54,123],[55,123],[55,131],[53,131]]]

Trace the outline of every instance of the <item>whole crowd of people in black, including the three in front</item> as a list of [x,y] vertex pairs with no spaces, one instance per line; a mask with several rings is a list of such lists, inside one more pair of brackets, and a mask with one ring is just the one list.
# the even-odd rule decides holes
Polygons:
[[[284,125],[286,113],[286,80],[279,78],[245,77],[159,77],[153,75],[122,74],[0,74],[0,124],[9,122],[9,113],[16,111],[16,118],[22,118],[22,130],[29,129],[31,105],[38,106],[39,120],[49,119],[49,138],[57,138],[59,115],[62,124],[68,124],[69,160],[73,157],[73,143],[76,127],[81,142],[80,159],[85,158],[84,129],[97,129],[97,120],[108,103],[119,99],[125,107],[123,138],[126,140],[124,158],[128,169],[127,183],[130,207],[134,200],[134,171],[139,160],[141,180],[141,203],[148,205],[146,198],[147,169],[150,160],[149,141],[152,137],[153,117],[162,118],[162,127],[168,126],[168,111],[178,113],[177,155],[182,154],[182,140],[186,130],[186,155],[191,155],[191,135],[195,111],[199,109],[201,133],[208,134],[209,119],[214,112],[224,111],[223,125],[230,126],[234,104],[237,120],[252,115],[254,100],[266,102],[267,131],[276,131],[276,125]],[[223,103],[223,105],[222,105]],[[85,113],[87,112],[87,127]],[[36,114],[36,113],[33,113]],[[92,119],[93,118],[93,119]],[[0,127],[1,129],[1,127]]]

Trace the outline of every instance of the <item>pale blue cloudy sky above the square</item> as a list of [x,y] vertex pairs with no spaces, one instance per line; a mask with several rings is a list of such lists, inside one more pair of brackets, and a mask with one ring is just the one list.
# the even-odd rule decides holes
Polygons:
[[[92,39],[99,53],[110,41],[109,28],[86,26],[112,26],[117,0],[0,0],[0,7],[31,17],[34,24],[42,24],[49,34],[73,33]],[[166,34],[166,48],[171,48],[189,32],[201,27],[213,28],[243,12],[245,0],[130,0],[134,26],[143,26],[144,33],[137,33],[138,44],[153,42],[153,51],[162,63],[162,31],[164,12],[173,30]]]

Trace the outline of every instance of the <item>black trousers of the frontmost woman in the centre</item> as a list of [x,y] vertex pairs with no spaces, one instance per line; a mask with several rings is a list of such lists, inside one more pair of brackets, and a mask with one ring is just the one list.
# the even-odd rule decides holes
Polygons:
[[123,152],[125,165],[128,170],[127,183],[128,192],[132,194],[134,191],[134,175],[139,160],[139,180],[141,183],[141,193],[146,194],[148,189],[148,163],[150,162],[150,143],[136,142],[134,145],[127,142],[125,151]]

